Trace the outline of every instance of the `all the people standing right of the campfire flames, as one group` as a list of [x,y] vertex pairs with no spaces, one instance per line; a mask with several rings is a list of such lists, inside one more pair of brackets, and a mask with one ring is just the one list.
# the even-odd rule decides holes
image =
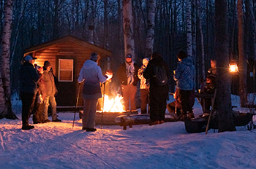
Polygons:
[[[121,91],[124,97],[125,110],[135,110],[135,94],[137,83],[140,80],[140,101],[141,114],[150,114],[149,125],[157,125],[165,122],[165,109],[170,113],[176,112],[177,120],[187,120],[195,117],[193,106],[195,103],[195,65],[192,58],[187,57],[187,53],[181,50],[178,52],[178,66],[173,74],[176,81],[176,101],[167,104],[168,83],[162,85],[156,82],[156,66],[165,68],[166,76],[169,77],[167,64],[162,59],[159,52],[154,52],[151,59],[143,59],[143,65],[139,68],[132,61],[132,55],[125,57],[125,63],[119,66],[117,77],[121,83]],[[213,94],[216,84],[216,61],[211,60],[211,68],[206,76],[206,84],[202,92]],[[206,110],[210,110],[211,98],[205,99],[203,105]],[[129,107],[130,106],[130,107]],[[207,111],[206,111],[207,112]]]

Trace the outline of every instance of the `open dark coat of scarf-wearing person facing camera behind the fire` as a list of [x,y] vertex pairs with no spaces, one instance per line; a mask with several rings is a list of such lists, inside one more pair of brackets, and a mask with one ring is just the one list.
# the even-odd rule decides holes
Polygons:
[[[138,69],[139,66],[134,63],[135,66],[135,72],[134,72],[134,81],[133,81],[133,85],[136,86],[138,81],[140,80],[138,78]],[[121,82],[121,84],[123,85],[127,85],[127,71],[126,71],[126,64],[122,63],[119,67],[118,67],[118,71],[117,71],[117,79],[119,80],[119,82]]]

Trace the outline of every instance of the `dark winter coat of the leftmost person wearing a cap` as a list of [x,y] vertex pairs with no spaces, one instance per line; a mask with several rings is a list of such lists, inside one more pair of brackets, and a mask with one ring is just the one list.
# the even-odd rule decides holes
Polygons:
[[39,74],[34,66],[29,62],[23,63],[19,72],[20,92],[36,94],[38,80]]

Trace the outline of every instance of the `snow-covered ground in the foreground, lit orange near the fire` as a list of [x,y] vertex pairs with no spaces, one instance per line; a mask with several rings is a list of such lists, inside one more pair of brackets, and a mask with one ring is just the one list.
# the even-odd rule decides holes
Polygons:
[[[201,114],[196,100],[194,112]],[[96,126],[89,133],[76,117],[74,128],[73,114],[59,113],[62,122],[33,130],[21,130],[21,120],[1,119],[0,168],[256,168],[256,130],[246,126],[206,135],[187,133],[184,122],[166,122],[127,130]]]

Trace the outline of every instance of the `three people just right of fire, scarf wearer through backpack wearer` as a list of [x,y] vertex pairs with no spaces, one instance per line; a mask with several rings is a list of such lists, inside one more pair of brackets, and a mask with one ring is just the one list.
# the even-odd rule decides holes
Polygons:
[[[165,120],[166,100],[168,96],[168,83],[159,85],[154,80],[155,66],[162,66],[168,76],[168,67],[159,52],[154,52],[151,59],[143,59],[143,65],[138,67],[132,60],[132,55],[125,56],[125,62],[118,67],[117,78],[121,84],[124,97],[124,109],[135,111],[135,95],[137,84],[140,81],[140,108],[141,114],[150,114],[150,125],[163,123]],[[150,103],[150,104],[149,104]],[[147,109],[148,106],[148,109]]]

